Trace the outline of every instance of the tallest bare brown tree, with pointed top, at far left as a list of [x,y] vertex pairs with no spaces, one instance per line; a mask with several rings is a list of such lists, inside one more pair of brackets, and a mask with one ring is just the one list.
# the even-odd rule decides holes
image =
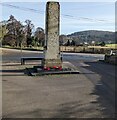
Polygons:
[[8,32],[4,36],[3,44],[19,47],[21,43],[21,36],[23,34],[23,25],[20,21],[17,21],[13,15],[11,15],[7,21],[6,29]]

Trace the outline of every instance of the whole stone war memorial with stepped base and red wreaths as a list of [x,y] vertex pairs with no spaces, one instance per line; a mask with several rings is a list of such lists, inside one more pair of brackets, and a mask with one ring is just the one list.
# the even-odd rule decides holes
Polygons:
[[[29,75],[48,75],[48,74],[77,74],[77,68],[70,63],[62,61],[59,47],[60,31],[60,4],[59,2],[49,1],[46,3],[46,21],[45,21],[45,45],[44,58],[41,65],[27,69]],[[33,58],[31,58],[33,60]],[[34,58],[35,59],[35,58]],[[36,60],[37,60],[36,59]]]

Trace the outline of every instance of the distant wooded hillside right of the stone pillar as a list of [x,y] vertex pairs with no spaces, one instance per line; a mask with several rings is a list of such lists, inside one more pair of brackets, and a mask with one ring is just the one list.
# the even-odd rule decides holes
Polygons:
[[83,42],[91,43],[92,41],[115,43],[115,32],[109,31],[88,30],[75,32],[67,35],[67,37],[72,38],[77,44]]

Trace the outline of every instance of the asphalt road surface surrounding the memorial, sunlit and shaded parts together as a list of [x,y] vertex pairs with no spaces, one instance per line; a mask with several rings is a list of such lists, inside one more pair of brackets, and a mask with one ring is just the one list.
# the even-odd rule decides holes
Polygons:
[[42,77],[18,71],[21,56],[43,53],[11,50],[3,55],[4,118],[115,117],[116,66],[99,61],[104,55],[64,53],[63,61],[77,66],[80,74]]

